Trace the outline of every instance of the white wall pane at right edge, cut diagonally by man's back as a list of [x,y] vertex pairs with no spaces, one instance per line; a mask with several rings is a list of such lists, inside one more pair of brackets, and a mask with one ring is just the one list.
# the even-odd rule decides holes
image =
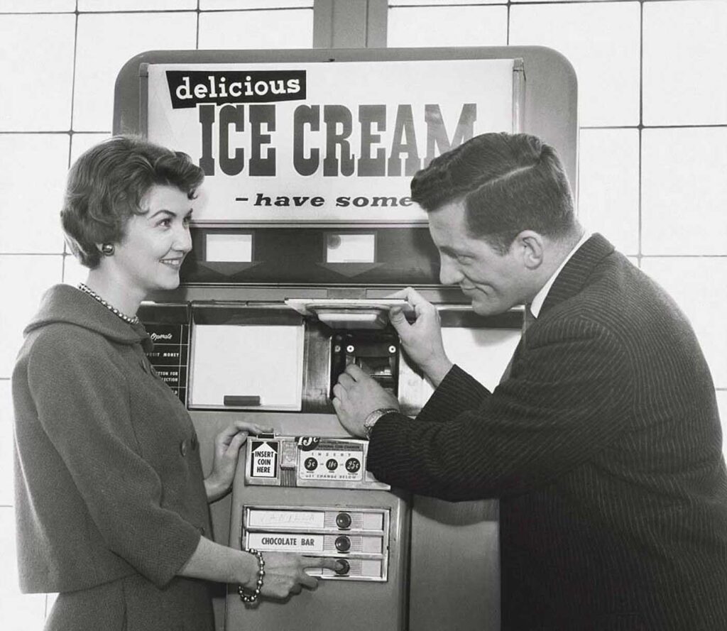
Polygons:
[[646,258],[641,268],[678,302],[692,323],[715,387],[727,387],[727,258]]

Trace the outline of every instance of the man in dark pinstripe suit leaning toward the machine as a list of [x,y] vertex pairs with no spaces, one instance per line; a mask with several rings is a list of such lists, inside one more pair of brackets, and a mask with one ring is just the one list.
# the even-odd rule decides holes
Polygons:
[[417,419],[357,366],[334,387],[342,425],[370,438],[371,472],[451,501],[499,498],[505,630],[727,629],[727,475],[686,318],[583,235],[535,137],[475,137],[411,191],[442,283],[481,315],[526,305],[528,326],[489,392],[447,358],[433,305],[402,292],[416,320],[391,322],[436,387]]

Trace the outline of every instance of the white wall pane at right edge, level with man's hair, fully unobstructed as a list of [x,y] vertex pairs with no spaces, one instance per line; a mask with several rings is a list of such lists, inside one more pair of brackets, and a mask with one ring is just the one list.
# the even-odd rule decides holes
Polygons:
[[727,128],[644,129],[643,254],[725,254]]

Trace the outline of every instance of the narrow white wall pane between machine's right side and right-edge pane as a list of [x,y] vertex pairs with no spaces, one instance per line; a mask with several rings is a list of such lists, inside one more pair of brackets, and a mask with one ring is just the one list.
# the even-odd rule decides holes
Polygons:
[[623,254],[638,253],[638,129],[581,129],[578,218]]

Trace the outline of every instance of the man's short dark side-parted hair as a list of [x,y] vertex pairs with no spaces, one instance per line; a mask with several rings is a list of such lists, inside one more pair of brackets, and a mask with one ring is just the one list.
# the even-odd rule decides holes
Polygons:
[[470,236],[500,254],[523,230],[558,238],[576,225],[558,154],[529,134],[481,134],[443,153],[414,175],[411,199],[426,212],[463,201]]

